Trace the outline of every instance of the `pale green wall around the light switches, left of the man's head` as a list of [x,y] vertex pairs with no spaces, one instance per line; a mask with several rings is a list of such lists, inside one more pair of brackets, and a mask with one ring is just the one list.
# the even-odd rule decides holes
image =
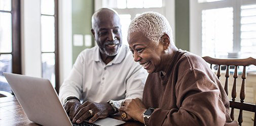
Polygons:
[[[91,17],[94,13],[93,0],[72,0],[72,36],[74,34],[91,34]],[[83,38],[84,39],[84,38]],[[73,38],[72,38],[73,40]],[[92,36],[92,46],[94,39]],[[72,62],[75,63],[79,53],[85,48],[84,46],[74,46],[72,42]]]

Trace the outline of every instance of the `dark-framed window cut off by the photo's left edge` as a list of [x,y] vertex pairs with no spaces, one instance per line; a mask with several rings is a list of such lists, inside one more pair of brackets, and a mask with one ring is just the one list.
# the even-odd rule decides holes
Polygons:
[[20,1],[0,0],[0,90],[12,93],[3,72],[21,74]]

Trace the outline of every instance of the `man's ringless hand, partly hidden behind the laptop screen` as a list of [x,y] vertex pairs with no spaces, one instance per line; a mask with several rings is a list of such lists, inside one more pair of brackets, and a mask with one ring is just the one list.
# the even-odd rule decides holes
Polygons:
[[81,103],[78,99],[70,99],[64,104],[64,108],[67,112],[67,115],[70,119],[73,119],[73,116]]

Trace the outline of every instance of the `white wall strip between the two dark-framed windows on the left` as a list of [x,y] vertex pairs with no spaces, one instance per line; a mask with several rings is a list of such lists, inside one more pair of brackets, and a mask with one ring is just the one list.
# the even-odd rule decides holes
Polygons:
[[40,18],[40,0],[21,1],[22,74],[32,77],[42,77]]

